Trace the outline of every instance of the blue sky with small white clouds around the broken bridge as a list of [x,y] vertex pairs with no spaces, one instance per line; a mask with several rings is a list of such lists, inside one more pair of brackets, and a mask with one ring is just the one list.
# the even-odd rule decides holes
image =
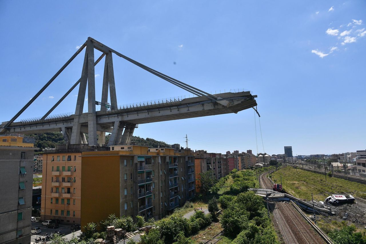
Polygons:
[[[258,95],[268,154],[287,145],[294,155],[365,149],[365,9],[365,1],[0,1],[0,120],[12,118],[90,36],[207,92]],[[82,62],[83,54],[19,118],[48,111],[80,78]],[[122,58],[113,64],[118,104],[188,95]],[[76,94],[53,114],[73,113]],[[252,109],[143,124],[134,133],[181,145],[186,134],[192,149],[257,152]]]

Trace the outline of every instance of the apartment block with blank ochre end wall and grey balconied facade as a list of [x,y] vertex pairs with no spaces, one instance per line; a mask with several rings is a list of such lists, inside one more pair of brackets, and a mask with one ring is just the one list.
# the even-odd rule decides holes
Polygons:
[[189,149],[115,145],[81,158],[82,226],[112,213],[160,219],[195,195]]

